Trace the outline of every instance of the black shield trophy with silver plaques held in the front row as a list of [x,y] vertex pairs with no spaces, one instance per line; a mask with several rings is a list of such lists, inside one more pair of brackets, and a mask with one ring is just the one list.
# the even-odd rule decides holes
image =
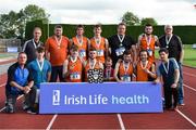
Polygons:
[[103,70],[102,69],[89,69],[87,72],[87,79],[89,83],[102,83]]

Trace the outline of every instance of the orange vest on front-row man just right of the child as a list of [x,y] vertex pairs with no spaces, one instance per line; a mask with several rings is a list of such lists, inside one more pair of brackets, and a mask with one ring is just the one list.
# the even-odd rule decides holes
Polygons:
[[119,66],[119,76],[120,76],[121,80],[131,81],[132,80],[132,74],[133,74],[132,63],[130,63],[127,70],[125,70],[123,62],[121,62],[120,66]]

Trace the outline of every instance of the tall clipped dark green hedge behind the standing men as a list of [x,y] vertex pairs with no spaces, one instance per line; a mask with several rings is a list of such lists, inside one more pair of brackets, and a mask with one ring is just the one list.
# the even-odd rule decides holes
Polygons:
[[[46,41],[48,37],[48,24],[44,24],[42,21],[28,22],[26,24],[25,39],[30,39],[33,37],[33,28],[40,27],[42,29],[41,41]],[[53,35],[53,28],[56,24],[49,25],[49,36]],[[63,35],[69,38],[75,36],[75,27],[76,25],[62,24],[63,26]],[[93,32],[94,25],[85,25],[85,36],[91,38],[94,36]],[[184,44],[192,44],[196,42],[196,26],[174,26],[174,34],[180,36]],[[137,37],[144,32],[144,26],[128,26],[126,34],[131,35],[135,40]],[[102,25],[102,36],[108,38],[112,35],[117,34],[117,25]],[[160,37],[164,34],[163,26],[155,26],[154,34]]]

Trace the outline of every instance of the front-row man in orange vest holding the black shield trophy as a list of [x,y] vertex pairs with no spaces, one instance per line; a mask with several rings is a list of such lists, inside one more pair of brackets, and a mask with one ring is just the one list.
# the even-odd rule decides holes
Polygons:
[[89,56],[89,58],[84,63],[85,81],[88,80],[88,70],[89,69],[103,69],[102,63],[97,60],[97,50],[95,48],[89,49],[88,56]]

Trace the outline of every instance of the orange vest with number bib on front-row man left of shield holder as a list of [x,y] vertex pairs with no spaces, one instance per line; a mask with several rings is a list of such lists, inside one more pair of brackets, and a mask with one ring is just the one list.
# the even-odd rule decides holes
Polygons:
[[77,58],[76,62],[72,62],[69,58],[68,70],[70,72],[66,78],[69,82],[82,82],[83,65],[79,58]]

